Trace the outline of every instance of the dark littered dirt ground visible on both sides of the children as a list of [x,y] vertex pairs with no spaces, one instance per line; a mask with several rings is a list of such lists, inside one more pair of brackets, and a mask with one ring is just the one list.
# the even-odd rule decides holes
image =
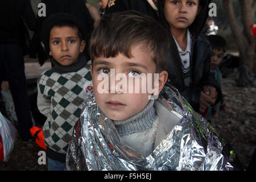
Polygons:
[[[29,94],[32,95],[34,92],[31,91]],[[255,86],[238,87],[233,76],[230,76],[224,78],[222,92],[226,103],[225,111],[222,110],[217,118],[212,119],[212,125],[233,146],[243,168],[246,169],[256,148],[256,88]],[[30,100],[35,100],[35,94],[30,96]],[[41,127],[43,125],[42,117],[36,111],[32,111],[32,113],[36,125]],[[0,171],[47,170],[47,165],[38,164],[39,151],[42,149],[33,140],[23,142],[18,136],[9,161],[0,162]]]

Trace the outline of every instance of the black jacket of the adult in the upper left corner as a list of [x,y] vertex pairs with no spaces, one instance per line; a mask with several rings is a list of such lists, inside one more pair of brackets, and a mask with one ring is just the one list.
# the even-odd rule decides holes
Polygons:
[[23,51],[29,41],[27,28],[36,29],[36,16],[30,0],[0,1],[0,43],[12,43],[22,46]]

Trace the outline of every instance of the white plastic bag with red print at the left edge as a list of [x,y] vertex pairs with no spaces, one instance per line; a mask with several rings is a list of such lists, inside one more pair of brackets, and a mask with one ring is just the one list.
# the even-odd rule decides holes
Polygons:
[[13,151],[17,130],[0,112],[0,161],[8,161]]

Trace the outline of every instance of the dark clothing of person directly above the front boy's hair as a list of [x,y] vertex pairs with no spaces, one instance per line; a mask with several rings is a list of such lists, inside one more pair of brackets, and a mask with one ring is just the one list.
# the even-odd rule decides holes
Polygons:
[[[110,5],[111,1],[113,2],[112,6]],[[109,5],[105,10],[105,14],[135,10],[158,20],[158,14],[146,0],[110,0]]]

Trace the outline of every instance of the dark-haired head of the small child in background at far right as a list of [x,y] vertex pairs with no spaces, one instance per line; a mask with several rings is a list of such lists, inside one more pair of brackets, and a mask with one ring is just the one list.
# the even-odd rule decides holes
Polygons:
[[212,45],[212,58],[210,67],[217,67],[226,52],[226,40],[220,35],[209,35],[209,42]]

